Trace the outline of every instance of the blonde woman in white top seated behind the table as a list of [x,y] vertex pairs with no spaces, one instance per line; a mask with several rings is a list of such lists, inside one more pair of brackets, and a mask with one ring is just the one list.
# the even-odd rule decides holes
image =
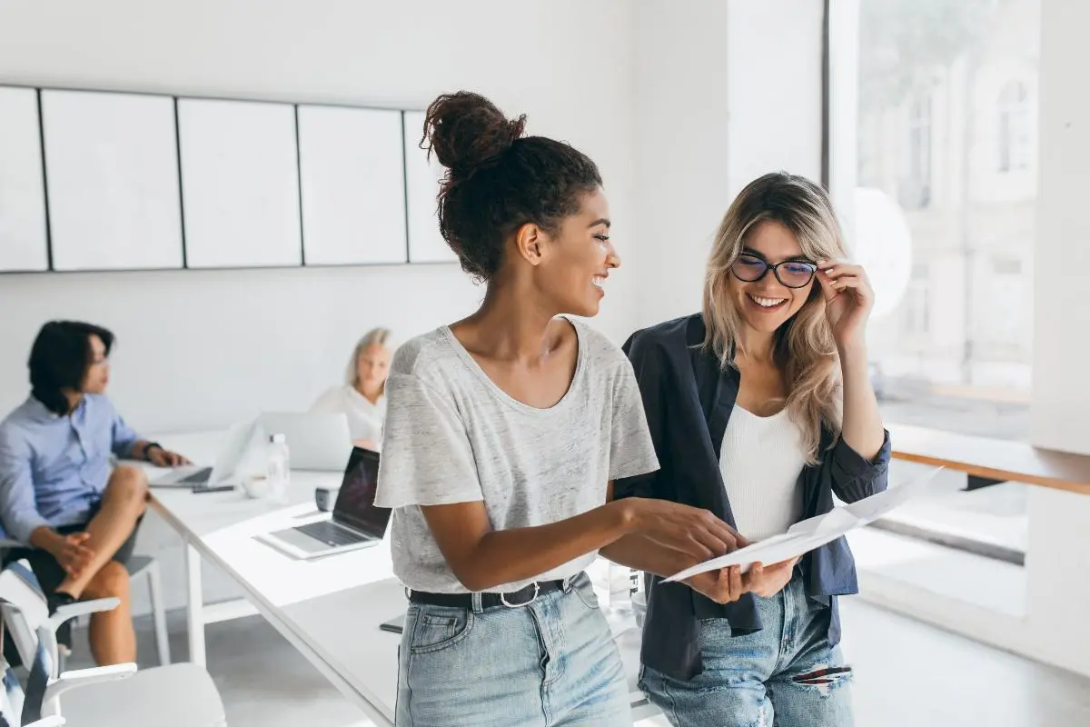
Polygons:
[[344,412],[353,444],[373,451],[378,451],[383,440],[391,349],[389,329],[367,331],[348,361],[344,384],[328,389],[311,407],[314,412]]

